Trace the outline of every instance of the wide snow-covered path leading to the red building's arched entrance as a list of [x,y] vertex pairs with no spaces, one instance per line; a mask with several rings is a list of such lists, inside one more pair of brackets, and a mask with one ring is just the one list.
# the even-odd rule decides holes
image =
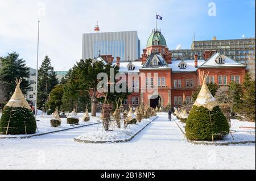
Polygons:
[[98,125],[0,140],[0,169],[255,169],[255,144],[189,144],[177,125],[167,121],[166,113],[158,116],[132,141],[119,144],[73,141]]

